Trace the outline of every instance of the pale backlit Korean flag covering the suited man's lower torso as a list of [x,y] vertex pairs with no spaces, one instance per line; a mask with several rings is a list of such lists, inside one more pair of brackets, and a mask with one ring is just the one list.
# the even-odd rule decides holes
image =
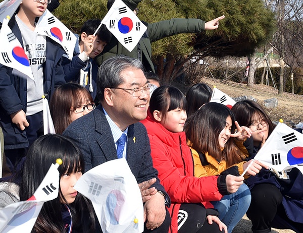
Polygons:
[[74,189],[91,200],[103,232],[143,231],[141,193],[124,158],[85,172]]

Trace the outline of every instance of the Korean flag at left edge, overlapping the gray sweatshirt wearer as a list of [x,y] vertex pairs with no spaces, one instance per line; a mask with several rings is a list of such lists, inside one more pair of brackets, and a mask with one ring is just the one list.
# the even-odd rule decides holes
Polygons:
[[4,19],[0,31],[0,63],[13,68],[13,74],[34,79],[28,57],[8,23],[9,20]]

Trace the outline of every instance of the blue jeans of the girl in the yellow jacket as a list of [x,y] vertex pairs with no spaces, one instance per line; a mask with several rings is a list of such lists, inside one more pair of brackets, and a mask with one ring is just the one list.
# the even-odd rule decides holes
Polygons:
[[219,211],[220,220],[227,226],[231,233],[235,225],[241,220],[250,205],[250,191],[243,184],[238,191],[222,197],[220,201],[212,201],[215,209]]

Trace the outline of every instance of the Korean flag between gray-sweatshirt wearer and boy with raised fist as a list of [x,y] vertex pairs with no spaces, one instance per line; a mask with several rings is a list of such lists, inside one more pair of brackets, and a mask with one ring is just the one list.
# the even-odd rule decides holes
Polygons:
[[39,18],[35,32],[39,35],[48,36],[59,43],[66,51],[69,59],[72,60],[77,38],[71,30],[47,9]]

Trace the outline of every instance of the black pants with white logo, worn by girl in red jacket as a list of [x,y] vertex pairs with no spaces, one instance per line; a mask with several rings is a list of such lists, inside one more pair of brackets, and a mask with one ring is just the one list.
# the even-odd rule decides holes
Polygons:
[[222,233],[217,223],[209,224],[202,204],[183,203],[178,213],[178,233]]

